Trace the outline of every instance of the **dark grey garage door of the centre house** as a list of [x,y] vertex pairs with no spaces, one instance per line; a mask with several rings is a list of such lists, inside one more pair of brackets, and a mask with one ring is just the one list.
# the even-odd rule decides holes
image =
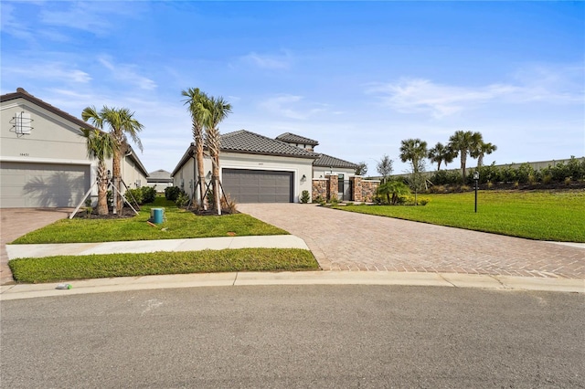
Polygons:
[[293,172],[223,169],[224,191],[237,203],[293,203]]

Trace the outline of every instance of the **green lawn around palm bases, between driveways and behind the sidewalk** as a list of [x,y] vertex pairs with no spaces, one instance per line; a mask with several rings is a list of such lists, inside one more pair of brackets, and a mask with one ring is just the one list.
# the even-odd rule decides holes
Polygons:
[[[150,208],[165,207],[163,224],[150,226]],[[176,207],[175,203],[157,197],[152,205],[144,205],[140,215],[125,219],[62,219],[17,238],[13,244],[87,243],[124,240],[181,239],[190,237],[228,237],[254,235],[288,235],[289,233],[254,217],[235,214],[196,216]]]

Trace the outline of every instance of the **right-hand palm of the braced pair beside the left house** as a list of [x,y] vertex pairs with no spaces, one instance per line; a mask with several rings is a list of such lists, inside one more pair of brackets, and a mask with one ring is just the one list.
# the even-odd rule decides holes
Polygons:
[[[144,126],[136,121],[133,116],[134,112],[131,112],[127,108],[109,108],[105,105],[99,112],[93,106],[86,107],[81,112],[83,121],[90,121],[100,130],[103,130],[104,125],[109,127],[110,134],[117,146],[113,152],[112,176],[118,193],[122,193],[122,155],[129,148],[127,135],[130,135],[140,151],[143,151],[143,144],[140,142],[140,138],[138,138],[138,132],[142,131]],[[116,213],[116,209],[122,209],[122,196],[118,196],[114,202],[114,214]]]

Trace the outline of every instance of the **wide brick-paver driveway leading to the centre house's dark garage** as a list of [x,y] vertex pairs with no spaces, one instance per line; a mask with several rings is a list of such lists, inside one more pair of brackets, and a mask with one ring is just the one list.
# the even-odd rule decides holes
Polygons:
[[585,248],[339,211],[241,204],[302,237],[324,270],[416,271],[585,279]]

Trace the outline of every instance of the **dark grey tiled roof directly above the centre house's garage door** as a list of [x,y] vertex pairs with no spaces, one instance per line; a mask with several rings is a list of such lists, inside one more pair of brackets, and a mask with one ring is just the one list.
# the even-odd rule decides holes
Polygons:
[[222,152],[283,155],[312,159],[318,156],[314,152],[307,152],[286,142],[271,139],[246,130],[221,135],[220,147]]

